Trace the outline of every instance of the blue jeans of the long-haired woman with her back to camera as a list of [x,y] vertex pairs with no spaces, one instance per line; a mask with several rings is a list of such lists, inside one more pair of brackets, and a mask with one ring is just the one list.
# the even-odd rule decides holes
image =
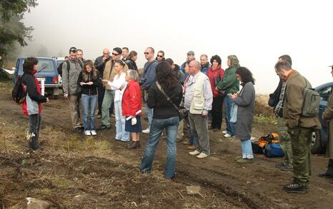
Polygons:
[[149,173],[154,160],[156,146],[161,138],[161,133],[165,128],[167,130],[167,164],[165,165],[165,178],[173,178],[176,170],[177,158],[177,130],[179,125],[179,116],[167,119],[153,118],[149,138],[146,143],[144,157],[141,160],[140,171]]

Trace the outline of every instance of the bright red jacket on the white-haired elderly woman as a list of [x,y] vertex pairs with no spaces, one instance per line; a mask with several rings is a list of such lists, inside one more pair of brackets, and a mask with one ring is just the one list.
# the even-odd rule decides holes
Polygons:
[[123,116],[140,116],[136,111],[141,111],[141,91],[139,83],[131,80],[127,83],[123,94],[121,109]]

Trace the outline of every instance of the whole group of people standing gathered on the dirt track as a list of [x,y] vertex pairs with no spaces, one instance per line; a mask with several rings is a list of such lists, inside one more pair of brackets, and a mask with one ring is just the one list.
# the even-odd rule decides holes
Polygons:
[[[149,134],[141,160],[141,173],[150,172],[156,146],[161,135],[165,134],[167,165],[164,175],[166,178],[174,177],[177,141],[182,141],[183,129],[187,129],[189,135],[188,140],[183,141],[192,150],[189,155],[207,158],[210,155],[208,131],[221,131],[223,104],[226,120],[226,130],[222,131],[224,138],[235,136],[241,141],[242,156],[236,158],[237,163],[253,162],[251,136],[255,80],[248,68],[240,66],[237,56],[227,56],[228,68],[224,70],[222,58],[218,55],[212,56],[209,63],[207,55],[202,54],[200,61],[197,61],[194,51],[189,51],[187,61],[179,67],[172,58],[164,57],[164,51],[159,51],[155,57],[154,49],[147,47],[144,51],[146,63],[139,78],[135,62],[137,53],[129,52],[126,47],[114,48],[112,55],[109,49],[104,49],[103,55],[94,63],[91,60],[82,61],[83,58],[77,58],[76,53],[77,49],[71,47],[69,61],[62,66],[64,97],[69,100],[74,130],[81,131],[83,128],[86,136],[94,136],[96,129],[111,127],[110,114],[114,110],[116,141],[131,141],[128,148],[139,148],[139,133]],[[49,101],[40,95],[38,81],[34,78],[37,62],[36,58],[26,58],[26,76],[22,76],[28,91],[26,106],[28,111],[33,109],[29,111],[30,147],[33,149],[40,148],[40,103]],[[304,101],[302,89],[307,83],[291,66],[290,56],[281,56],[277,61],[275,71],[280,83],[269,100],[269,106],[274,107],[279,120],[279,135],[285,144],[286,157],[277,167],[294,170],[294,180],[284,190],[307,193],[311,175],[309,135],[321,126],[318,117],[303,117],[299,113]],[[148,118],[148,127],[144,130],[141,126],[142,101]],[[99,108],[97,117],[102,123],[99,128],[95,128],[96,104]],[[332,119],[333,111],[330,110],[324,114],[327,120]],[[323,175],[333,176],[332,160],[329,160],[329,169]]]

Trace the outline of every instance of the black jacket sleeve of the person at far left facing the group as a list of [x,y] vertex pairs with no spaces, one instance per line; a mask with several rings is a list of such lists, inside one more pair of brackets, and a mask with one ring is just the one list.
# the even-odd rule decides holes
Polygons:
[[31,73],[23,73],[22,83],[26,86],[26,91],[31,98],[31,100],[36,101],[37,103],[45,103],[46,97],[42,96],[36,88],[36,81],[34,76]]

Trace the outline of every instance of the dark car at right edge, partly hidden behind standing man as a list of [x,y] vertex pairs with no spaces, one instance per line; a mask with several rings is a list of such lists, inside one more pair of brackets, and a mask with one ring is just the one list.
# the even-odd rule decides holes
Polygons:
[[314,131],[312,133],[312,154],[322,154],[326,151],[328,123],[322,120],[322,112],[327,107],[327,100],[329,98],[329,93],[331,93],[332,86],[333,82],[329,82],[314,88],[321,96],[318,117],[320,123],[322,123],[322,130]]

